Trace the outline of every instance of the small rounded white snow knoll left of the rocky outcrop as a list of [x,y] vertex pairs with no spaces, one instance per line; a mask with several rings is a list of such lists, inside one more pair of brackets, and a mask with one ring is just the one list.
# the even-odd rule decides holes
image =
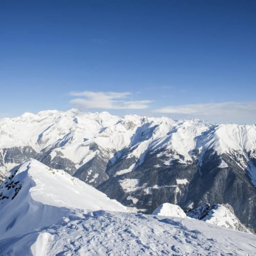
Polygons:
[[185,212],[180,208],[179,205],[169,203],[161,204],[153,211],[152,214],[166,217],[187,218]]

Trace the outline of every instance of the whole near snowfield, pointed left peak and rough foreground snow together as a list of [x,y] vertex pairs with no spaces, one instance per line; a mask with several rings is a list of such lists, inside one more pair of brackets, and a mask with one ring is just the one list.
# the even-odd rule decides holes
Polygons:
[[1,255],[245,254],[256,249],[252,234],[198,220],[133,214],[72,179],[31,160],[3,183]]

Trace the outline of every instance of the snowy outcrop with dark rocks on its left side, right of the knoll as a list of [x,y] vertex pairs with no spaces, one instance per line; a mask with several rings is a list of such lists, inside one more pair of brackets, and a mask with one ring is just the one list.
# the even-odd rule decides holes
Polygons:
[[250,230],[239,221],[236,215],[234,215],[232,207],[228,204],[204,204],[188,211],[187,216],[210,224],[250,232]]

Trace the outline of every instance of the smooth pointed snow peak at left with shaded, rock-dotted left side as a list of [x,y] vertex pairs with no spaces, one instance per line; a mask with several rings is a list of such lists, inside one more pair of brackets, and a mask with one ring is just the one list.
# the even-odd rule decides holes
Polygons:
[[74,208],[127,211],[66,172],[27,161],[0,187],[0,239],[51,225]]

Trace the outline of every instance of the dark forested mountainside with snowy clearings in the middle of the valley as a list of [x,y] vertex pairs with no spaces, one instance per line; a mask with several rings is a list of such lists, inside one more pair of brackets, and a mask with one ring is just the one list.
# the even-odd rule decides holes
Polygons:
[[[188,183],[198,172],[196,164],[184,165],[178,161],[170,166],[163,164],[166,156],[158,157],[161,152],[148,152],[144,156],[144,161],[139,159],[121,158],[107,170],[114,174],[113,170],[126,169],[130,163],[135,163],[134,169],[126,174],[111,176],[97,188],[106,193],[111,198],[115,198],[124,205],[136,206],[144,209],[144,212],[151,214],[160,204],[169,202],[182,204],[187,202]],[[122,164],[123,163],[123,164]],[[116,172],[115,172],[116,173]],[[177,184],[178,180],[186,179],[188,183]],[[138,180],[138,187],[133,191],[125,193],[120,185],[123,180]],[[134,203],[130,198],[136,198]]]

